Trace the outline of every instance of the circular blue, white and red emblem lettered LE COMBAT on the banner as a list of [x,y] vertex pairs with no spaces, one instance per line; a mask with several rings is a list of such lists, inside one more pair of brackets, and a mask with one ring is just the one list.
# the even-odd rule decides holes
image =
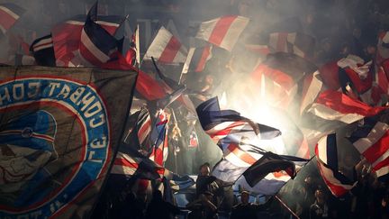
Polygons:
[[0,84],[0,217],[58,213],[107,164],[110,126],[95,87],[61,78]]

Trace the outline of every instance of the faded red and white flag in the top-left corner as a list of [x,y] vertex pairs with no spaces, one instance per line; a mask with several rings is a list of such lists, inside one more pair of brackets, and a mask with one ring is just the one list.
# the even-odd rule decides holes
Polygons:
[[0,4],[0,31],[5,35],[14,23],[24,14],[25,10],[12,3]]

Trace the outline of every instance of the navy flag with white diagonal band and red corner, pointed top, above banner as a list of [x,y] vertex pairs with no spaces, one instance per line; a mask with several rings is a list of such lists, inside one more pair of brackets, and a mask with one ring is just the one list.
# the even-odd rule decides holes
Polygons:
[[86,16],[86,23],[81,32],[79,52],[89,65],[101,66],[110,59],[117,59],[120,53],[120,42],[92,20],[94,8]]

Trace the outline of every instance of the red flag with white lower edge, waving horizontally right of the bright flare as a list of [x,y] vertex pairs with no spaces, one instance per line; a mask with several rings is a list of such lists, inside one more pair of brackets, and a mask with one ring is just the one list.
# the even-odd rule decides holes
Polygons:
[[373,116],[383,111],[384,107],[366,105],[339,91],[326,90],[307,109],[307,113],[314,114],[327,121],[354,123],[366,116]]

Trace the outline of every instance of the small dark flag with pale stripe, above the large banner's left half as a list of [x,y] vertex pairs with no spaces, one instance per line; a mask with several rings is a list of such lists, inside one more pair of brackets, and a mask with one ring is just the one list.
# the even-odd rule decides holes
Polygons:
[[54,47],[51,34],[32,41],[30,46],[37,65],[40,66],[56,66]]

